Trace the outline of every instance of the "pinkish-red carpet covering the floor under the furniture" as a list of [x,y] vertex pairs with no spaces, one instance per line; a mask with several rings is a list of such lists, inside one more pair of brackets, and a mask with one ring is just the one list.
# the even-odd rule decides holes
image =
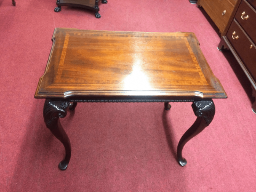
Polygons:
[[[0,191],[255,191],[256,114],[249,81],[231,52],[217,50],[220,34],[188,0],[114,1],[94,12],[55,1],[0,0]],[[63,145],[44,124],[44,100],[34,99],[54,28],[194,32],[227,99],[215,99],[215,118],[185,145],[196,119],[191,103],[78,103],[61,119],[73,148],[58,169]]]

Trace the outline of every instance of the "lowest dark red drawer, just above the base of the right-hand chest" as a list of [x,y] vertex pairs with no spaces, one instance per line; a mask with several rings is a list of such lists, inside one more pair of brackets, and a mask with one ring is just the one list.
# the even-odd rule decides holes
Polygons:
[[[236,34],[233,35],[234,31]],[[236,36],[238,36],[238,39],[235,38]],[[235,19],[231,23],[228,33],[226,33],[226,38],[228,38],[228,41],[236,50],[252,78],[256,81],[256,46]]]

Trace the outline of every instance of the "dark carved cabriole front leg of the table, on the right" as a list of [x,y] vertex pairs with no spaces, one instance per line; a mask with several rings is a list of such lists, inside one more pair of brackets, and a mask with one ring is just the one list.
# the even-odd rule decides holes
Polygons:
[[198,102],[193,102],[192,108],[194,114],[198,117],[194,124],[188,129],[185,134],[178,142],[177,148],[177,156],[178,156],[178,163],[181,166],[186,165],[186,159],[182,157],[182,150],[184,145],[193,137],[198,135],[204,128],[209,126],[212,119],[214,119],[215,114],[215,106],[212,100],[202,100]]

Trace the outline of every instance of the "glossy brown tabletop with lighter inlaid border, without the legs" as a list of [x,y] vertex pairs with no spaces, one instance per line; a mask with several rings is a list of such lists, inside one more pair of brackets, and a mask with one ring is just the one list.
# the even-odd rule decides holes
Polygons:
[[[162,97],[224,94],[193,33],[87,31],[56,28],[55,45],[35,97],[66,98],[154,91]],[[58,62],[58,64],[56,63]],[[202,67],[204,66],[204,67]],[[216,83],[217,82],[217,83]],[[55,92],[55,94],[54,94]],[[101,93],[102,92],[102,93]],[[48,96],[47,96],[48,95]],[[203,98],[202,96],[201,98]]]

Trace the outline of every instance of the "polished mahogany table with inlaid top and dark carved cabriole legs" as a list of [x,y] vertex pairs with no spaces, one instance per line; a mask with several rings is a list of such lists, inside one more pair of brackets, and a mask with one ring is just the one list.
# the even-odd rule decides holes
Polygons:
[[[86,31],[56,28],[52,50],[35,98],[46,98],[44,122],[63,143],[65,170],[71,145],[59,118],[78,102],[192,102],[198,117],[180,139],[183,146],[214,118],[212,98],[226,98],[210,70],[194,33]],[[150,105],[150,104],[149,104]]]

